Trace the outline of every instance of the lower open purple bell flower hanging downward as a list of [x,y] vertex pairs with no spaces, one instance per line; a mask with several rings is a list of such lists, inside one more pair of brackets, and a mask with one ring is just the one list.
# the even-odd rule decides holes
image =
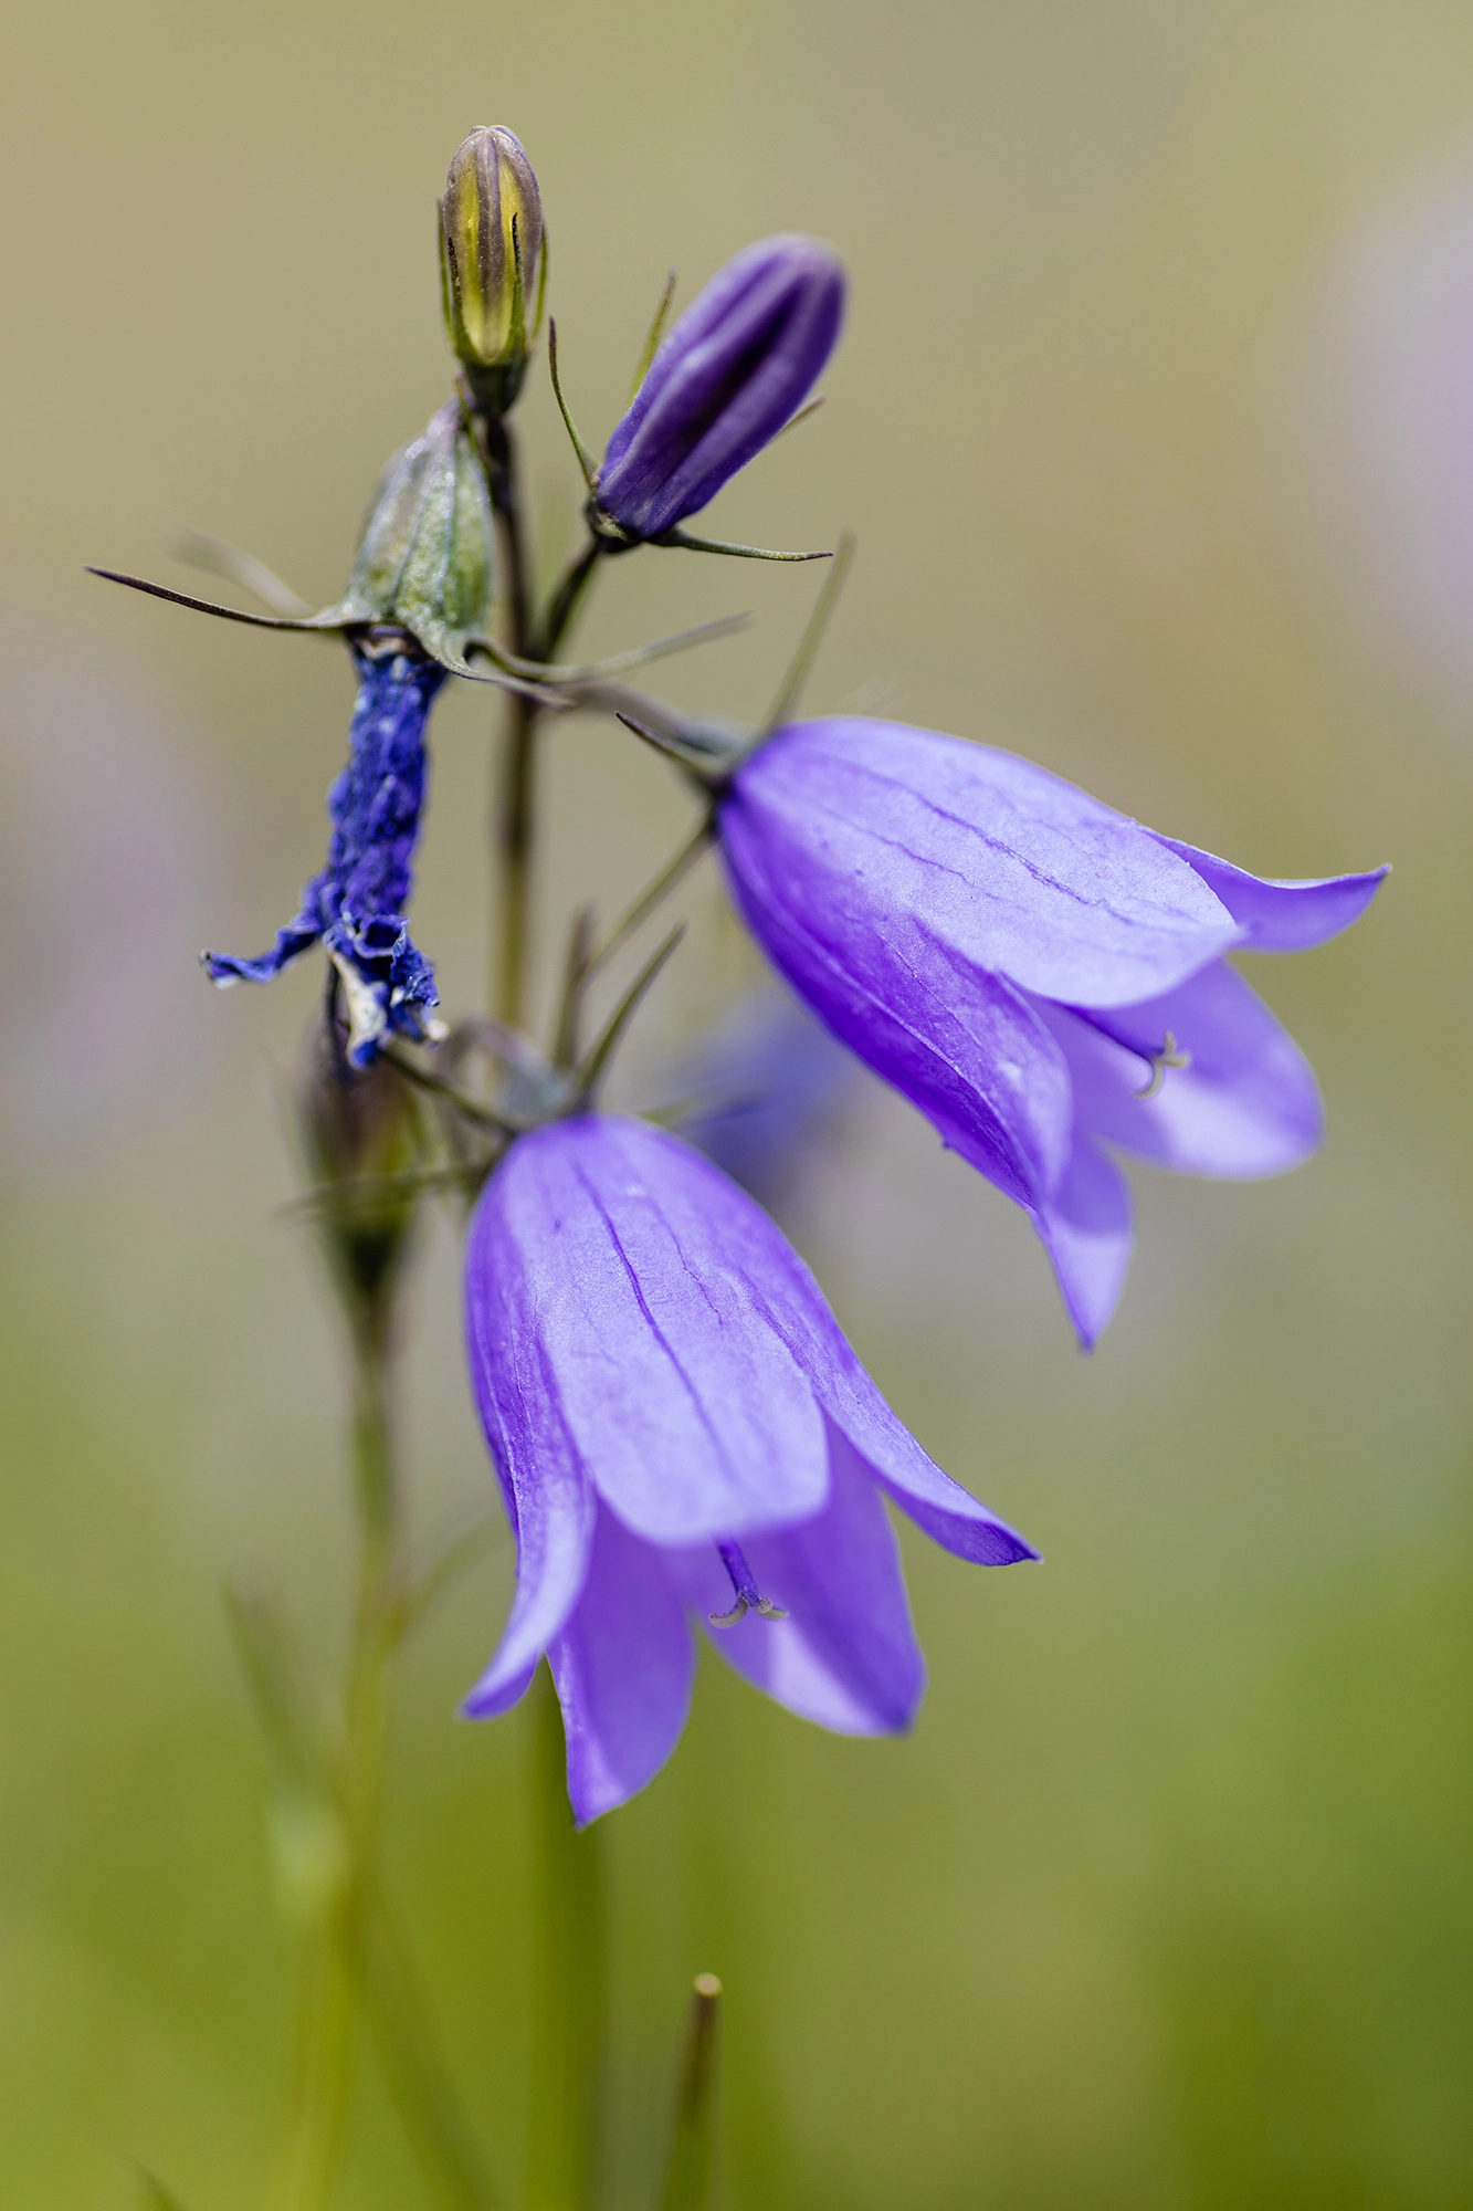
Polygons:
[[896,1419],[761,1207],[641,1121],[513,1143],[467,1243],[471,1384],[518,1594],[467,1711],[546,1654],[579,1822],[686,1725],[690,1623],[790,1711],[905,1729],[924,1685],[882,1497],[978,1565],[1035,1552]]

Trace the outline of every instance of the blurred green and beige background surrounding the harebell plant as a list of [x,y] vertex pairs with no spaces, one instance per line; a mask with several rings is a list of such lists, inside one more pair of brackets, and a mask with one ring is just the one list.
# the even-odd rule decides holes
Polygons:
[[[878,1090],[803,1194],[880,1384],[1048,1563],[907,1537],[907,1742],[703,1665],[610,1822],[610,2211],[650,2200],[701,1968],[734,2211],[1473,2204],[1473,13],[11,0],[0,40],[0,2196],[106,2211],[144,2160],[195,2211],[257,2202],[290,1950],[219,1581],[281,1574],[321,1665],[343,1625],[338,1346],[279,1214],[318,977],[219,997],[195,951],[265,944],[318,865],[347,666],[80,570],[188,588],[159,546],[192,524],[336,595],[447,387],[445,164],[509,122],[591,440],[672,261],[690,298],[767,230],[843,248],[829,405],[710,513],[858,531],[814,705],[1009,743],[1265,873],[1396,862],[1351,937],[1254,973],[1323,1156],[1139,1174],[1093,1360],[1022,1218]],[[524,425],[573,517],[540,376]],[[586,641],[759,608],[670,677],[756,712],[809,595],[648,553]],[[440,708],[416,935],[451,1008],[487,968],[489,725]],[[686,814],[619,732],[549,767],[546,953]],[[648,1068],[745,973],[714,887],[688,904]],[[489,1481],[449,1223],[418,1291],[429,1526]],[[456,1720],[506,1594],[502,1545],[411,1652],[387,1855],[515,2202],[526,1742]],[[365,2069],[343,2202],[420,2200]]]

